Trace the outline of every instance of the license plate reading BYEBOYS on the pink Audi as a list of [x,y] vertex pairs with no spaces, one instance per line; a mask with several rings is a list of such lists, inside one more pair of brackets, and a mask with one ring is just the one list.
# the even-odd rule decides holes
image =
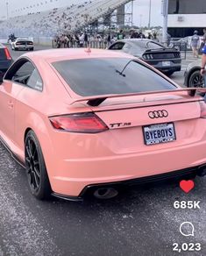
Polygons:
[[144,126],[143,132],[146,145],[167,143],[176,140],[174,123]]

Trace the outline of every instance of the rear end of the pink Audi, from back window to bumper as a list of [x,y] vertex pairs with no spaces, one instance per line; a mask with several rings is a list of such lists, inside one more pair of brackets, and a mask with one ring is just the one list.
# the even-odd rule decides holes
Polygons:
[[129,59],[69,61],[53,63],[72,96],[72,112],[49,117],[56,196],[114,195],[119,184],[204,168],[206,106],[194,90]]

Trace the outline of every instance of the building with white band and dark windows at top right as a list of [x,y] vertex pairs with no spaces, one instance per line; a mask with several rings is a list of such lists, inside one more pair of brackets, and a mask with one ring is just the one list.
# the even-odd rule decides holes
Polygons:
[[206,0],[168,0],[168,32],[174,38],[203,34],[206,27]]

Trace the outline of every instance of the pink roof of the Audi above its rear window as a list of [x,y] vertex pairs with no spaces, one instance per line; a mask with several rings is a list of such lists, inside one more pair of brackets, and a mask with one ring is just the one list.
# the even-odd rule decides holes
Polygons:
[[35,51],[25,53],[22,57],[27,56],[32,60],[46,60],[52,63],[60,60],[78,60],[78,59],[93,59],[93,58],[133,58],[127,53],[117,53],[116,51],[108,51],[102,49],[87,49],[87,48],[61,48]]

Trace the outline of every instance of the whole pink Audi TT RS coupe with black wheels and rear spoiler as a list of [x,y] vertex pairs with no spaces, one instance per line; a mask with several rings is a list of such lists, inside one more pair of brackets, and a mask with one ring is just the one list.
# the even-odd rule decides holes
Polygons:
[[120,185],[206,174],[204,91],[125,53],[26,53],[1,81],[0,136],[33,196],[110,198]]

